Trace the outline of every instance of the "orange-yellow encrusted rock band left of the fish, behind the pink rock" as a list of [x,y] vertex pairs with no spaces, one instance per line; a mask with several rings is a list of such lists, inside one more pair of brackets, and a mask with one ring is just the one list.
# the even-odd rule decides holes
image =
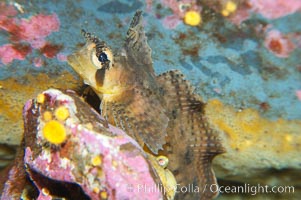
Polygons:
[[[22,108],[30,99],[48,88],[76,89],[80,83],[67,71],[40,73],[0,80],[0,170],[14,159],[23,137]],[[33,85],[35,87],[33,87]]]

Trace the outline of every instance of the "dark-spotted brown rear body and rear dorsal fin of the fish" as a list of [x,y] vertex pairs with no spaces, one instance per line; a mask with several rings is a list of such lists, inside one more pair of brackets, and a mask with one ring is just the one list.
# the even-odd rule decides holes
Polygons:
[[[196,184],[200,190],[216,183],[211,168],[214,156],[224,152],[216,133],[204,115],[205,104],[192,92],[192,87],[178,71],[158,76],[172,125],[168,129],[165,154],[180,185]],[[189,174],[183,173],[188,172]],[[182,173],[181,173],[182,172]],[[195,177],[197,175],[197,177]],[[209,189],[204,194],[179,194],[179,199],[211,199],[216,194]]]

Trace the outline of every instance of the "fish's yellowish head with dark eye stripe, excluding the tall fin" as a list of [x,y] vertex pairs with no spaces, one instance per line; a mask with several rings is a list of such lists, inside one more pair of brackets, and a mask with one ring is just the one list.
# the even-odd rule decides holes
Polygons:
[[120,95],[132,87],[133,73],[126,55],[114,56],[112,49],[90,33],[82,30],[86,44],[68,56],[68,63],[84,82],[99,95]]

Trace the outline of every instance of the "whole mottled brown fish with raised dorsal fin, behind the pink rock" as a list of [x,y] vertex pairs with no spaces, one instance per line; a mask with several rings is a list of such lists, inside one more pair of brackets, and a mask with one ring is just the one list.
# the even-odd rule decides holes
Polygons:
[[193,94],[183,74],[155,75],[141,11],[136,12],[125,44],[114,56],[104,41],[85,31],[83,35],[86,45],[68,56],[68,62],[100,97],[101,114],[148,147],[146,151],[168,158],[167,168],[180,186],[199,189],[177,193],[176,198],[216,196],[205,187],[216,183],[211,161],[224,149],[207,123],[205,104]]

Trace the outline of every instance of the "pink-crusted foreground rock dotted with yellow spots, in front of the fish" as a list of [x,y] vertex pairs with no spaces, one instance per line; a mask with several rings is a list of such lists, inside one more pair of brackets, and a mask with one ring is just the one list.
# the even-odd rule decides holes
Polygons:
[[[56,112],[59,108],[64,112]],[[74,92],[49,89],[26,103],[23,117],[24,151],[18,159],[24,157],[24,163],[17,163],[26,166],[32,182],[25,184],[24,170],[14,166],[1,199],[27,199],[30,191],[31,199],[39,200],[164,198],[159,189],[146,189],[161,181],[143,149]],[[58,127],[51,134],[66,136],[60,144],[46,137],[44,127],[53,121]],[[11,184],[14,177],[21,178],[18,188]]]

